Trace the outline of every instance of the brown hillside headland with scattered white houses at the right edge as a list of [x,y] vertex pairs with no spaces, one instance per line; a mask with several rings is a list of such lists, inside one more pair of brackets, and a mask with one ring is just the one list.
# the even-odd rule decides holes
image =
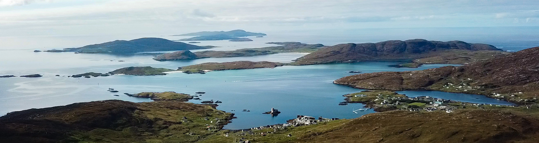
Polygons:
[[360,89],[438,90],[486,95],[519,103],[539,101],[539,47],[468,65],[351,75],[333,83]]

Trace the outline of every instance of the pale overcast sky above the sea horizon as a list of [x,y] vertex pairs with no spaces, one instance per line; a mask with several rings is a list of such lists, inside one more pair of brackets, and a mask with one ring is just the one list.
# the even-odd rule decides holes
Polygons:
[[538,0],[0,0],[0,35],[539,26]]

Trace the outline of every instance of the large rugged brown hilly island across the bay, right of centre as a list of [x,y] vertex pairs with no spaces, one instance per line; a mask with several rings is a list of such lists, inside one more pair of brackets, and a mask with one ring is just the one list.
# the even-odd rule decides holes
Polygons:
[[[466,59],[467,57],[469,58],[470,56],[486,55],[486,53],[464,55],[464,53],[469,53],[472,51],[488,51],[486,53],[507,53],[492,45],[469,44],[463,41],[443,42],[427,41],[424,39],[412,39],[405,41],[390,40],[377,43],[349,43],[330,46],[296,59],[294,65],[402,59],[420,59],[419,61],[422,61],[421,59],[430,57],[446,59],[440,60],[440,63],[446,63],[445,61],[452,58],[452,61],[461,61],[459,63],[462,63],[462,61],[466,62],[466,60],[462,59]],[[496,55],[500,56],[503,54]],[[469,59],[468,61],[485,59],[485,56],[481,57],[483,58]],[[433,62],[433,60],[429,60],[427,62],[439,63]]]

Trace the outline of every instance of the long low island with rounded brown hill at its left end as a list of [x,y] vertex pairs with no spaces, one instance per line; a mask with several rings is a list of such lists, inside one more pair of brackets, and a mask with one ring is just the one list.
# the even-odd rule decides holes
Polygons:
[[234,51],[200,51],[200,52],[194,52],[195,55],[192,55],[191,52],[183,51],[183,52],[162,54],[155,57],[154,60],[157,60],[157,61],[193,60],[193,59],[200,59],[200,58],[225,58],[225,57],[267,55],[267,54],[290,53],[290,52],[312,53],[325,47],[327,46],[324,46],[322,44],[287,44],[287,45],[282,45],[282,46],[272,46],[272,47],[263,47],[263,48],[244,48],[244,49],[237,49]]

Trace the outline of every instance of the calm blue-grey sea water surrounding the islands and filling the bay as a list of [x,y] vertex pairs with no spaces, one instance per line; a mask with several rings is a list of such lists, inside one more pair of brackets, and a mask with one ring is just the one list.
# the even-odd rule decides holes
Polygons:
[[[534,32],[535,31],[535,32]],[[264,31],[253,31],[264,32]],[[377,42],[384,40],[462,40],[491,44],[511,51],[539,45],[537,27],[493,28],[410,28],[368,30],[316,30],[316,31],[268,31],[264,38],[251,38],[250,42],[201,41],[197,45],[221,46],[212,50],[232,50],[274,46],[264,44],[272,41],[300,41],[307,44],[335,45],[347,42]],[[448,65],[425,65],[420,68],[391,68],[388,65],[406,61],[377,61],[312,66],[284,66],[265,69],[212,71],[208,74],[171,73],[164,76],[115,75],[108,77],[68,78],[68,75],[86,72],[106,73],[129,66],[152,66],[176,69],[177,67],[203,62],[226,62],[238,60],[290,62],[305,53],[281,53],[240,58],[210,58],[192,61],[151,60],[143,54],[74,54],[34,53],[34,49],[79,47],[116,39],[155,37],[179,33],[144,35],[33,35],[30,37],[4,37],[8,41],[0,46],[0,75],[42,74],[40,78],[0,78],[0,115],[31,108],[46,108],[77,102],[121,99],[132,102],[148,102],[149,99],[133,98],[121,93],[176,91],[194,94],[207,92],[200,98],[222,101],[219,110],[236,113],[237,119],[226,125],[228,129],[250,128],[261,125],[285,123],[296,115],[327,118],[356,118],[370,113],[351,112],[362,104],[337,105],[342,95],[362,91],[332,82],[352,75],[347,71],[364,73],[378,71],[404,71],[436,68]],[[181,39],[183,37],[162,37]],[[112,61],[111,61],[112,60]],[[123,60],[125,62],[119,62]],[[61,75],[61,76],[54,76]],[[114,88],[120,96],[107,92]],[[479,95],[451,94],[438,91],[401,91],[408,96],[433,96],[474,103],[510,104]],[[476,99],[479,98],[479,99]],[[200,101],[191,101],[199,103]],[[277,117],[263,115],[271,108],[282,113]],[[356,107],[357,108],[357,107]],[[231,111],[236,110],[236,111]],[[250,110],[251,112],[241,112]]]

